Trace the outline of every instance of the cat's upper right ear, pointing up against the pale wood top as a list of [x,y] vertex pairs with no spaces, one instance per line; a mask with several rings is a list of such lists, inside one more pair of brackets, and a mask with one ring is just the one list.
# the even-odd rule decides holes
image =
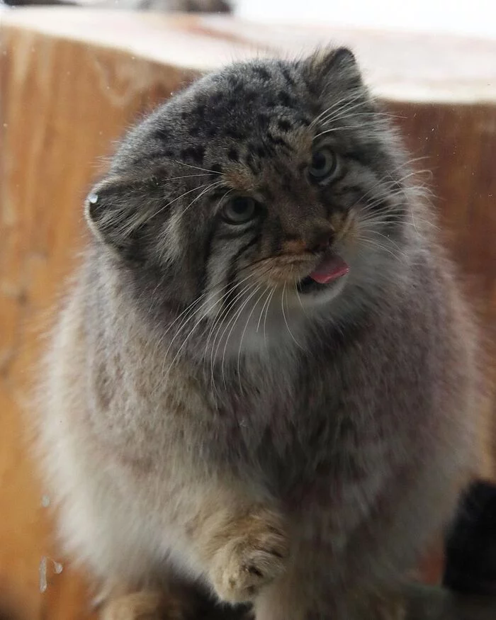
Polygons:
[[331,93],[350,92],[351,96],[369,101],[360,68],[348,47],[324,48],[307,60],[307,82],[317,98],[327,99]]

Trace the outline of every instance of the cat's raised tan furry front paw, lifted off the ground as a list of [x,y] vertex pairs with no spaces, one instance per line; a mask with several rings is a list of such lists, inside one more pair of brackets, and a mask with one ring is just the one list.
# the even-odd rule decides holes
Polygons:
[[211,580],[222,601],[249,602],[281,575],[289,554],[281,519],[270,511],[245,517],[215,554]]

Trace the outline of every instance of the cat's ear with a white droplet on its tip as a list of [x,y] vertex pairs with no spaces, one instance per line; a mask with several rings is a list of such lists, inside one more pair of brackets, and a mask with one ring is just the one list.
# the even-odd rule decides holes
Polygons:
[[148,219],[144,187],[118,176],[96,184],[86,197],[84,215],[91,232],[125,259],[140,259],[140,236]]

